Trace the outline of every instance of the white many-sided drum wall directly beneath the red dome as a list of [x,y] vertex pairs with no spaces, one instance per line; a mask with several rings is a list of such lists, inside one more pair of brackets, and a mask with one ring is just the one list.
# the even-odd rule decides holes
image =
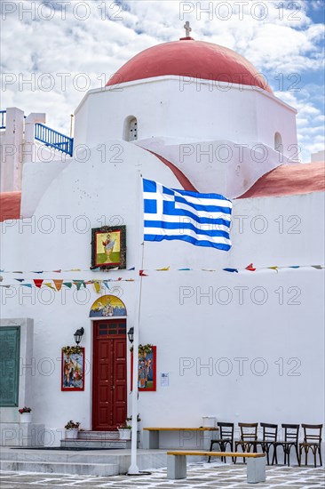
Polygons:
[[[271,110],[271,114],[270,111]],[[264,113],[263,130],[258,129]],[[257,140],[273,148],[272,115],[281,121],[283,139],[297,142],[294,109],[268,92],[245,85],[162,76],[93,90],[75,111],[75,145],[90,147],[123,139],[128,116],[138,118],[139,140]],[[292,141],[291,141],[292,139]]]

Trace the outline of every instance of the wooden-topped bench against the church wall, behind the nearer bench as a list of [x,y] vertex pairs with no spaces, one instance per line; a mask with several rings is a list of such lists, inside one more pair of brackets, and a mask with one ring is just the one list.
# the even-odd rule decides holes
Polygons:
[[[193,441],[193,449],[200,449],[201,445],[203,450],[210,449],[210,438],[215,437],[215,431],[218,428],[144,428],[142,446],[144,449],[160,448],[159,434],[165,431],[179,432],[179,446],[178,448],[187,448],[186,442]],[[205,433],[208,435],[205,436]],[[169,446],[169,448],[172,448]],[[192,448],[192,447],[188,447]]]

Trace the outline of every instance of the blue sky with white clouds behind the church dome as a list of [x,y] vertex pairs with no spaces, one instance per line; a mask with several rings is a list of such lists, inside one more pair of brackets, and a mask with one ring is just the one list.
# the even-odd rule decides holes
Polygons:
[[303,161],[324,148],[324,0],[70,0],[65,14],[61,0],[44,3],[2,2],[2,108],[46,112],[48,125],[68,133],[87,89],[138,52],[184,36],[189,20],[195,39],[240,52],[297,108]]

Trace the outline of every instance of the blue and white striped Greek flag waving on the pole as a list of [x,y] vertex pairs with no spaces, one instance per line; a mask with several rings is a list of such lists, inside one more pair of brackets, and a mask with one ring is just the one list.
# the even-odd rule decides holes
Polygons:
[[143,196],[145,241],[181,239],[230,250],[232,203],[226,197],[175,190],[145,179]]

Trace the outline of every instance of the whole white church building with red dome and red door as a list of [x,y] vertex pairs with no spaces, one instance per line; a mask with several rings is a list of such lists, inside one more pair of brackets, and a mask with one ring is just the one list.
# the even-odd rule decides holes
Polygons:
[[[69,420],[123,424],[138,313],[155,346],[140,428],[324,424],[324,164],[299,162],[296,115],[240,54],[191,37],[87,92],[73,139],[3,112],[2,445],[21,445],[23,406],[36,445]],[[143,243],[141,176],[232,200],[231,250]],[[75,380],[62,348],[82,328]]]

